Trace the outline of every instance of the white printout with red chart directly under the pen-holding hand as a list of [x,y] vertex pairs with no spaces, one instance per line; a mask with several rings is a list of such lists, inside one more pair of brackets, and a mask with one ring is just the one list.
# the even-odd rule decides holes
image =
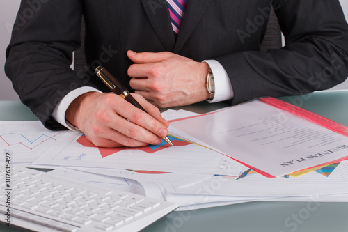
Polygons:
[[177,145],[169,147],[163,142],[155,148],[97,148],[84,138],[84,134],[74,137],[64,134],[33,164],[198,174],[223,172],[231,176],[237,175],[242,167],[229,157],[203,146],[183,143],[180,139],[173,139],[173,142]]

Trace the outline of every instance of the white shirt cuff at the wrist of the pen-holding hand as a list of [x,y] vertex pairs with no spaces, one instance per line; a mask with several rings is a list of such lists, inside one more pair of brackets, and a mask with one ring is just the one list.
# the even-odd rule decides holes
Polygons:
[[67,127],[69,130],[79,130],[77,127],[74,127],[74,125],[65,120],[65,113],[72,101],[74,101],[80,95],[88,92],[102,93],[101,91],[97,90],[97,88],[88,86],[74,89],[73,91],[65,95],[65,97],[56,105],[52,112],[52,117],[58,123],[61,123],[61,125]]

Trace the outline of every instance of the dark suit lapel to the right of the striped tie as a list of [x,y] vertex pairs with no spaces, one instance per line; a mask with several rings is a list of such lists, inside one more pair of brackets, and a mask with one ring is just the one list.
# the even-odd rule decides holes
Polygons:
[[193,31],[196,29],[196,26],[207,10],[210,1],[211,0],[189,0],[184,15],[184,21],[182,22],[180,33],[173,49],[174,53],[177,53],[182,49],[185,42],[187,42]]

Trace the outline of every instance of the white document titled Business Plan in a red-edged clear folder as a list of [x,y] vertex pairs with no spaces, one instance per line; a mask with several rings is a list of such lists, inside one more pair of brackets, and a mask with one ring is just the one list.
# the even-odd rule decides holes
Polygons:
[[260,100],[171,126],[271,176],[348,156],[348,137]]

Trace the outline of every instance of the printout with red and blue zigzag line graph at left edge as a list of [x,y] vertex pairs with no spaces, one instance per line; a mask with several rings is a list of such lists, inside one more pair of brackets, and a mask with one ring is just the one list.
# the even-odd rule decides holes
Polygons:
[[10,152],[13,163],[31,163],[65,133],[47,130],[40,121],[0,121],[1,153]]

